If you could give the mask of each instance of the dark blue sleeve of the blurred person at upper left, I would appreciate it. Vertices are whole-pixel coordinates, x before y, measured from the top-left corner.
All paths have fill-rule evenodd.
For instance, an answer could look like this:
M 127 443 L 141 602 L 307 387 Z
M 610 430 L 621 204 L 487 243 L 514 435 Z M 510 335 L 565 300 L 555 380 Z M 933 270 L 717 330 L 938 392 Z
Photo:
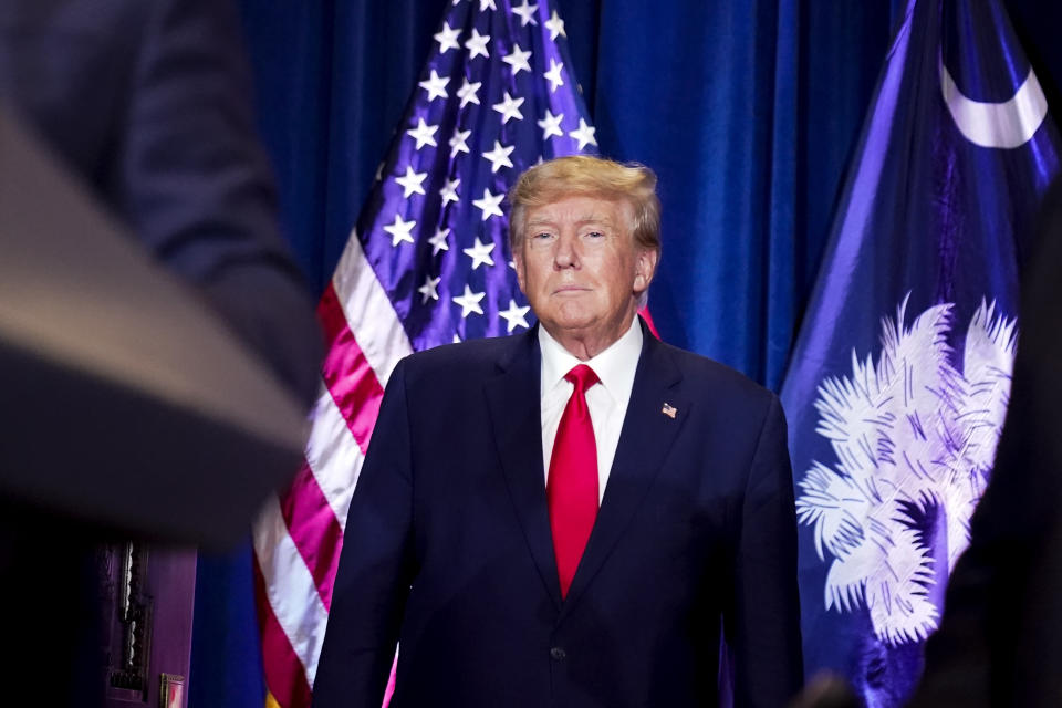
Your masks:
M 96 177 L 148 250 L 309 406 L 322 337 L 278 229 L 233 3 L 144 7 L 116 158 Z

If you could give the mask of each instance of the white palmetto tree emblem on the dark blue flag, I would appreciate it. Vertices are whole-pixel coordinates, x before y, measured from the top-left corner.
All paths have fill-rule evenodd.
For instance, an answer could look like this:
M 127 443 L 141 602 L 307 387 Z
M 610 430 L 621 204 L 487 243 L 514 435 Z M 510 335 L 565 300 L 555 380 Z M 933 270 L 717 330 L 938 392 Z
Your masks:
M 907 299 L 895 320 L 883 319 L 876 364 L 853 351 L 852 377 L 820 385 L 816 431 L 836 460 L 813 461 L 796 500 L 820 560 L 832 556 L 826 608 L 865 604 L 891 645 L 925 639 L 937 626 L 934 564 L 946 553 L 950 573 L 969 543 L 1007 410 L 1016 337 L 1014 321 L 982 301 L 959 372 L 947 343 L 952 305 L 929 308 L 909 329 L 906 310 Z M 918 525 L 930 508 L 939 520 L 935 548 Z

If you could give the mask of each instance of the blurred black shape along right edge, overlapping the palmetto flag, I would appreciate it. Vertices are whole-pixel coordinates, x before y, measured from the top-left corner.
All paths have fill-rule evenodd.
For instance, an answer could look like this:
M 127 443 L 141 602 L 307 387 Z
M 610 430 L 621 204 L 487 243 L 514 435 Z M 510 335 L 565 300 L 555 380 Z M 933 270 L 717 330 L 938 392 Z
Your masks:
M 995 471 L 909 707 L 1062 706 L 1062 181 L 1038 236 Z

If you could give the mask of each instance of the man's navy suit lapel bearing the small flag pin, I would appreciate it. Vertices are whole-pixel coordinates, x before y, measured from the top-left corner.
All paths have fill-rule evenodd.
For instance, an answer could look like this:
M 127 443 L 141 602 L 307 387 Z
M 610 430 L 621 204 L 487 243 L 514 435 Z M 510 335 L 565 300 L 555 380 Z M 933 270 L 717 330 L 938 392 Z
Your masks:
M 639 319 L 641 322 L 641 319 Z M 688 417 L 689 400 L 680 395 L 681 373 L 667 350 L 643 326 L 645 341 L 623 420 L 615 461 L 586 550 L 564 601 L 561 618 L 571 611 L 615 548 L 645 498 L 664 456 Z M 663 413 L 668 404 L 675 418 Z M 546 525 L 546 532 L 549 527 Z M 555 574 L 555 572 L 554 572 Z

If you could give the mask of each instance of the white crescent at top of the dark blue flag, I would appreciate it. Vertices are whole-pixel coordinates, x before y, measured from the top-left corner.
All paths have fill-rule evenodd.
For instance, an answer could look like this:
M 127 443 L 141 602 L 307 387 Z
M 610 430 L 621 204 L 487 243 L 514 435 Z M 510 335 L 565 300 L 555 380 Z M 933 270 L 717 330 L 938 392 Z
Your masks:
M 939 58 L 940 92 L 959 132 L 981 147 L 1020 147 L 1035 134 L 1048 115 L 1048 100 L 1037 75 L 1029 75 L 1010 101 L 985 103 L 962 95 Z

